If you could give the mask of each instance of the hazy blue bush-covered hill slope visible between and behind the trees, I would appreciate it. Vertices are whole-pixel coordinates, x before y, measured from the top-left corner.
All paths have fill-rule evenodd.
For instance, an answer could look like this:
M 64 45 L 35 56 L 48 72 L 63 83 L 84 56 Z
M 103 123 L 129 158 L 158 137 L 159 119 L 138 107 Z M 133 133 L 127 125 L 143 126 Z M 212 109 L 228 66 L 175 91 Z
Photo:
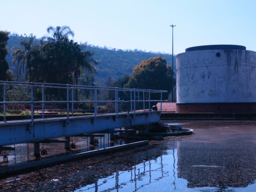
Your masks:
M 17 73 L 15 66 L 12 66 L 12 56 L 11 48 L 13 46 L 20 45 L 20 38 L 29 38 L 28 36 L 19 36 L 17 34 L 10 35 L 8 40 L 7 48 L 8 55 L 6 60 L 10 65 L 10 69 L 14 74 Z M 39 44 L 39 40 L 36 41 L 36 44 Z M 94 45 L 84 46 L 84 51 L 92 51 L 94 53 L 94 59 L 100 62 L 100 65 L 97 66 L 98 73 L 95 74 L 95 81 L 98 84 L 103 84 L 108 77 L 111 77 L 112 80 L 123 76 L 124 74 L 131 74 L 133 68 L 136 65 L 140 64 L 142 60 L 148 60 L 151 57 L 156 57 L 161 55 L 167 60 L 167 64 L 172 66 L 172 55 L 156 52 L 144 52 L 142 50 L 120 50 L 120 49 L 109 49 L 108 47 L 99 47 Z M 174 69 L 175 67 L 175 57 L 174 57 Z

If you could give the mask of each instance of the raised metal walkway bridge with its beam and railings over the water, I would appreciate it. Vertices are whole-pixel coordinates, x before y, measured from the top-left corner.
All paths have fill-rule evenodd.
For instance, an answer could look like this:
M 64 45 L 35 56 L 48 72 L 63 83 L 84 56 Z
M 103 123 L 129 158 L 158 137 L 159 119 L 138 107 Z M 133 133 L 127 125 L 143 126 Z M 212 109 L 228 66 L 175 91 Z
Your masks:
M 24 92 L 29 92 L 30 100 L 8 100 L 7 91 L 13 87 L 23 87 Z M 62 100 L 47 100 L 46 90 L 57 89 L 64 90 L 65 97 Z M 92 92 L 91 100 L 74 100 L 77 90 L 86 90 Z M 112 92 L 114 100 L 98 100 L 98 92 Z M 120 92 L 126 92 L 128 100 L 120 100 Z M 126 89 L 118 87 L 99 87 L 99 86 L 83 86 L 69 84 L 42 84 L 27 82 L 5 82 L 0 81 L 0 113 L 3 115 L 3 121 L 0 122 L 0 146 L 40 142 L 58 137 L 66 137 L 81 135 L 86 133 L 97 133 L 114 130 L 121 127 L 132 127 L 137 125 L 145 125 L 156 123 L 160 120 L 162 111 L 162 102 L 164 102 L 163 90 L 146 90 L 146 89 Z M 21 93 L 23 94 L 23 93 Z M 35 97 L 36 94 L 36 97 Z M 40 97 L 38 97 L 40 94 Z M 151 100 L 150 98 L 158 100 Z M 40 99 L 35 99 L 40 98 Z M 108 114 L 98 114 L 99 103 L 114 103 L 115 112 Z M 160 102 L 161 107 L 158 111 L 151 111 L 152 102 Z M 46 117 L 45 107 L 48 104 L 59 104 L 66 106 L 67 115 L 65 117 Z M 76 115 L 74 105 L 76 103 L 92 103 L 94 113 L 91 115 Z M 129 109 L 120 109 L 121 105 L 129 106 Z M 6 107 L 7 105 L 28 105 L 30 106 L 31 115 L 26 120 L 7 121 Z M 41 116 L 35 118 L 35 105 L 40 105 Z M 65 140 L 69 146 L 70 140 Z

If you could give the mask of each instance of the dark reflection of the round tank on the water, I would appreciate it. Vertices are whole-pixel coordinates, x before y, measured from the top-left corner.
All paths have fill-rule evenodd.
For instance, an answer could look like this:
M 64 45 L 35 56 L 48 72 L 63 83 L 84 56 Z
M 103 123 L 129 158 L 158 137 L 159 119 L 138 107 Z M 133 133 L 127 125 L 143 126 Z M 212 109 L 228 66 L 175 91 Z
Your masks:
M 215 122 L 214 127 L 221 127 L 223 124 L 232 127 L 232 122 L 223 121 L 219 124 Z M 197 125 L 195 123 L 194 126 Z M 241 129 L 245 129 L 245 125 L 240 123 L 238 125 L 242 126 Z M 209 126 L 209 122 L 201 122 L 200 126 Z M 217 133 L 209 134 L 207 137 L 202 135 L 205 135 L 208 129 L 195 129 L 197 132 L 193 137 L 177 144 L 178 178 L 186 179 L 188 188 L 246 187 L 255 183 L 254 125 L 252 124 L 250 128 L 248 127 L 250 125 L 246 126 L 247 136 L 237 132 L 237 127 L 234 127 L 233 132 L 230 132 L 233 128 L 226 132 L 216 128 Z

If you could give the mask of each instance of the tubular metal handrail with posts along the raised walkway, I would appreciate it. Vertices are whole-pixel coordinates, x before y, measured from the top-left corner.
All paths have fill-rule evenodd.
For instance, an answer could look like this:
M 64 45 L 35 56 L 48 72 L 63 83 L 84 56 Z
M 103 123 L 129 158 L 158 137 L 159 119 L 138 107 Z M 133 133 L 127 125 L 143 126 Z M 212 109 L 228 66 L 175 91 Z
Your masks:
M 6 101 L 6 86 L 23 86 L 29 87 L 31 93 L 31 100 L 30 101 Z M 84 86 L 84 85 L 70 85 L 70 84 L 50 84 L 50 83 L 28 83 L 28 82 L 8 82 L 8 81 L 0 81 L 0 87 L 3 87 L 3 101 L 0 104 L 3 104 L 3 113 L 4 113 L 4 122 L 6 122 L 6 104 L 30 104 L 31 105 L 31 126 L 33 126 L 34 122 L 34 104 L 42 104 L 42 118 L 44 118 L 44 104 L 49 103 L 66 103 L 67 104 L 67 122 L 69 119 L 69 105 L 71 103 L 71 113 L 74 114 L 74 103 L 94 103 L 94 118 L 96 119 L 97 116 L 97 104 L 99 102 L 114 102 L 115 103 L 115 114 L 116 117 L 118 116 L 118 103 L 130 103 L 131 108 L 130 111 L 133 111 L 134 116 L 136 113 L 136 103 L 143 102 L 143 111 L 147 111 L 145 109 L 145 102 L 148 102 L 148 113 L 150 113 L 150 102 L 161 102 L 160 112 L 162 111 L 162 102 L 166 101 L 163 100 L 163 93 L 167 92 L 164 90 L 147 90 L 147 89 L 128 89 L 128 88 L 118 88 L 118 87 L 100 87 L 100 86 Z M 42 92 L 41 101 L 34 100 L 34 89 L 40 88 Z M 45 88 L 55 88 L 55 89 L 66 89 L 67 93 L 67 100 L 56 100 L 56 101 L 45 101 L 44 100 L 44 89 Z M 94 100 L 74 100 L 74 90 L 93 90 L 94 91 Z M 97 93 L 98 90 L 107 90 L 107 91 L 114 91 L 115 92 L 115 100 L 97 100 Z M 70 92 L 71 91 L 71 92 Z M 119 100 L 118 92 L 130 92 L 130 100 L 124 101 Z M 160 100 L 151 100 L 150 96 L 152 93 L 160 93 Z M 128 93 L 129 94 L 129 93 Z M 142 100 L 140 100 L 140 95 L 142 94 Z M 145 100 L 145 94 L 148 95 L 148 100 Z M 71 96 L 71 99 L 69 98 Z M 138 100 L 136 100 L 136 97 Z

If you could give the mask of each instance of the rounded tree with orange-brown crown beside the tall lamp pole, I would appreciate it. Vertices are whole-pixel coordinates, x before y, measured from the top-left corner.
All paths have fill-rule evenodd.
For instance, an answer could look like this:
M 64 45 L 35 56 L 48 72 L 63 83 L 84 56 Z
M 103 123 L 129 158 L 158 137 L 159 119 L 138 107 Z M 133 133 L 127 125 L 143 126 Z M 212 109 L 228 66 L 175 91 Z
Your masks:
M 132 76 L 125 87 L 167 90 L 169 93 L 172 90 L 172 75 L 172 68 L 166 65 L 166 59 L 161 56 L 150 58 L 141 61 L 140 65 L 133 69 Z M 168 93 L 163 94 L 164 100 L 168 99 Z M 156 98 L 159 100 L 158 96 L 151 97 L 151 100 Z

